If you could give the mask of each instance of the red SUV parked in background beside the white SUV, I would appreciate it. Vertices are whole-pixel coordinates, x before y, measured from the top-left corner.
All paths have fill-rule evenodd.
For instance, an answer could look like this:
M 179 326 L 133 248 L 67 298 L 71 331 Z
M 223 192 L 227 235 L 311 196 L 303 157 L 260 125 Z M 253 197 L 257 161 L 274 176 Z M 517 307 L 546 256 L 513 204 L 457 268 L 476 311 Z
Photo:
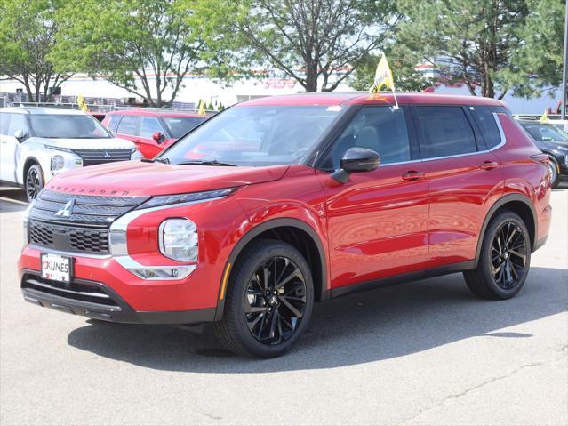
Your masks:
M 125 109 L 109 112 L 102 124 L 117 137 L 134 142 L 145 158 L 154 158 L 206 119 L 186 112 Z

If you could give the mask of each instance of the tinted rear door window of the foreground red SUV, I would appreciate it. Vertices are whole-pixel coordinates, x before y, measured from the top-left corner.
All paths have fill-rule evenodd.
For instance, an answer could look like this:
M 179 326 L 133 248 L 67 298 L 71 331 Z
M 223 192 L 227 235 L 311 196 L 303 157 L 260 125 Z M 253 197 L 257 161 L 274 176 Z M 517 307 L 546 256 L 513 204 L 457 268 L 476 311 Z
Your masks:
M 422 131 L 422 158 L 451 157 L 477 151 L 476 136 L 461 107 L 416 107 Z

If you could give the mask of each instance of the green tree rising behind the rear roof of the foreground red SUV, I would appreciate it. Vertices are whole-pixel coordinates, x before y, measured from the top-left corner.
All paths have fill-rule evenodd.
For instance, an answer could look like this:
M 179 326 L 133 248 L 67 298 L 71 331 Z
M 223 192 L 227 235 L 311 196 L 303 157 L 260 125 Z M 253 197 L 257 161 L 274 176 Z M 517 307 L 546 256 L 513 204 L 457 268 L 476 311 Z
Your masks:
M 399 0 L 405 20 L 397 42 L 419 52 L 442 80 L 463 82 L 472 95 L 502 99 L 521 89 L 514 60 L 524 46 L 526 0 Z M 561 35 L 558 35 L 560 38 Z

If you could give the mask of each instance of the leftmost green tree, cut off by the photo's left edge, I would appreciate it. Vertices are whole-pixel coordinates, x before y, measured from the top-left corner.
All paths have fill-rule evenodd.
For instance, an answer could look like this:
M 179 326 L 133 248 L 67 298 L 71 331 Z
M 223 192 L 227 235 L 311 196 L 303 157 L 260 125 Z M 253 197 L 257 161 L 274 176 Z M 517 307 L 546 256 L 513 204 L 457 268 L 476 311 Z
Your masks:
M 0 76 L 23 84 L 28 100 L 52 97 L 71 75 L 55 71 L 50 59 L 58 24 L 57 0 L 2 0 L 0 2 Z

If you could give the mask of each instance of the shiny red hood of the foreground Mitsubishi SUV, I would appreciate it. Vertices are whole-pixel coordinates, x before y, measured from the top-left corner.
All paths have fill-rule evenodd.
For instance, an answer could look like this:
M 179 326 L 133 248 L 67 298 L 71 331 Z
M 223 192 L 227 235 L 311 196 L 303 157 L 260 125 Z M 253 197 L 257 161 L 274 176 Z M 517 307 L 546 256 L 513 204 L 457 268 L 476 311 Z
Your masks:
M 134 160 L 61 173 L 49 181 L 46 188 L 103 196 L 181 194 L 276 181 L 284 176 L 288 167 L 164 165 Z

